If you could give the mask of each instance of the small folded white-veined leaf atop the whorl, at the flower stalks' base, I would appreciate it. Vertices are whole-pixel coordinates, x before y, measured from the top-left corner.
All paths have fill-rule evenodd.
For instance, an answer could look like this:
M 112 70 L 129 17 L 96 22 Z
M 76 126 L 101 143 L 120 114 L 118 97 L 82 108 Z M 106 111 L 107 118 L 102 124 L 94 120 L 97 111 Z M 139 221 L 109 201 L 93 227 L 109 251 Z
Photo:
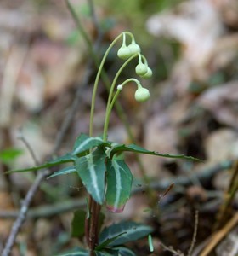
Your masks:
M 87 134 L 82 133 L 77 137 L 72 154 L 82 154 L 91 148 L 99 147 L 101 145 L 110 146 L 111 143 L 105 142 L 102 137 L 89 137 Z

